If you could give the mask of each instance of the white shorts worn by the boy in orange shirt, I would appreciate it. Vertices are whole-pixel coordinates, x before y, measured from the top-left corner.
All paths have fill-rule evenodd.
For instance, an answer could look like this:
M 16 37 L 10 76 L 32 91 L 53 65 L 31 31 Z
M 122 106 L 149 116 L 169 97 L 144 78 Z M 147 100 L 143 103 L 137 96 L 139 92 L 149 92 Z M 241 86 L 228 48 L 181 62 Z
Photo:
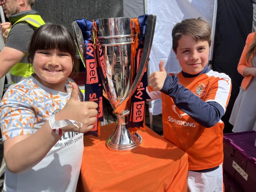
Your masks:
M 210 172 L 188 170 L 188 192 L 223 192 L 222 164 Z

